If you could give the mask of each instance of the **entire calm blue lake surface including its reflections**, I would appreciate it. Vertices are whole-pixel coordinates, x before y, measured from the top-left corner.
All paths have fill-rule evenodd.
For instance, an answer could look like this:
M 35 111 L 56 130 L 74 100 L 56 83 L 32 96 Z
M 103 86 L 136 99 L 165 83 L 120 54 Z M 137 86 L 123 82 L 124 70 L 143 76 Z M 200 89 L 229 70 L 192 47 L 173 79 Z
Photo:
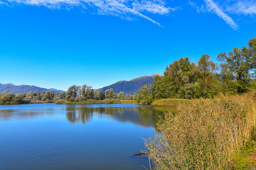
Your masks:
M 0 169 L 149 169 L 144 140 L 161 109 L 137 105 L 0 106 Z

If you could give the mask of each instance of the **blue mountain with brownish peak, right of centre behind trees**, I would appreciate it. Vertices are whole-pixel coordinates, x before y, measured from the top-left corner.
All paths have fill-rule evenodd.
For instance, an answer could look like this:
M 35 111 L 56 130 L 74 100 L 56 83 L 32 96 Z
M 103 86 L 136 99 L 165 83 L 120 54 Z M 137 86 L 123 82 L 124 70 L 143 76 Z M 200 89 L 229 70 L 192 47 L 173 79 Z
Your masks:
M 103 91 L 107 89 L 114 89 L 114 92 L 117 94 L 122 91 L 124 92 L 124 95 L 127 94 L 137 94 L 139 93 L 139 89 L 141 89 L 144 85 L 151 85 L 154 81 L 154 77 L 156 75 L 162 76 L 161 74 L 154 74 L 152 76 L 144 76 L 144 77 L 138 77 L 136 79 L 132 79 L 130 81 L 118 81 L 117 83 L 111 84 L 110 86 L 105 86 L 101 89 Z M 100 90 L 100 89 L 98 89 Z

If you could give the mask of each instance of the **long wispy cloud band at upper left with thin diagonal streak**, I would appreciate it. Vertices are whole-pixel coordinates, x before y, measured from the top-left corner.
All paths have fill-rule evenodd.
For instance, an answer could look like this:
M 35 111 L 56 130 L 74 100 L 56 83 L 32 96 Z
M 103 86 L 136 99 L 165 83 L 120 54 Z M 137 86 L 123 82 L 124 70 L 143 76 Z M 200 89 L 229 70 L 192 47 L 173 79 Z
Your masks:
M 144 15 L 142 12 L 156 13 L 160 15 L 175 11 L 175 8 L 166 6 L 162 0 L 7 0 L 9 4 L 24 4 L 30 6 L 46 6 L 47 8 L 73 8 L 83 10 L 94 8 L 97 14 L 112 15 L 125 18 L 129 15 L 145 18 L 152 23 L 161 26 L 160 23 Z M 0 0 L 1 3 L 1 0 Z M 162 26 L 161 26 L 162 27 Z

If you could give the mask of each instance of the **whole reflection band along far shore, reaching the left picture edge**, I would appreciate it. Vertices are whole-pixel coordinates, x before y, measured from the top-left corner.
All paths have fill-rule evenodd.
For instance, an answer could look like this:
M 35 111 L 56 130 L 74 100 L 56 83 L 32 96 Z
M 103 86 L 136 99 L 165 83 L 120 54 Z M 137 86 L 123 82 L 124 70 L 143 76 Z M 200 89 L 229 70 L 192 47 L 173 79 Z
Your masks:
M 134 123 L 143 127 L 154 127 L 164 112 L 171 108 L 139 106 L 139 107 L 92 107 L 92 106 L 62 106 L 51 108 L 28 109 L 0 109 L 0 119 L 10 120 L 12 118 L 33 118 L 39 115 L 65 114 L 68 122 L 82 123 L 86 125 L 97 116 L 97 118 L 110 118 L 119 123 Z

